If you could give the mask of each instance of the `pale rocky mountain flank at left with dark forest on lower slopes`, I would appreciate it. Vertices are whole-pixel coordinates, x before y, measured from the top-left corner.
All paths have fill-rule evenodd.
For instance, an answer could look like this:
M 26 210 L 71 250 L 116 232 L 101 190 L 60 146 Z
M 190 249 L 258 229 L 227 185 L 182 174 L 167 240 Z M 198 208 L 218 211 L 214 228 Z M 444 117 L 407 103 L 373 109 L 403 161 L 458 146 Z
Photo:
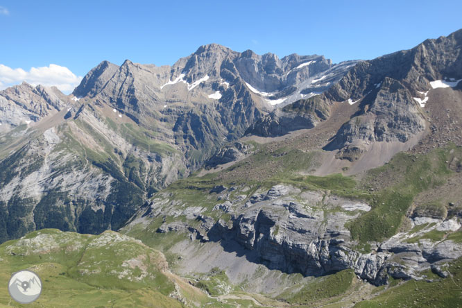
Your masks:
M 31 95 L 40 89 L 22 87 Z M 1 242 L 42 228 L 118 230 L 184 168 L 173 148 L 157 143 L 157 153 L 149 151 L 135 126 L 114 129 L 97 107 L 53 112 L 12 143 L 10 135 L 0 136 L 6 144 L 0 151 Z

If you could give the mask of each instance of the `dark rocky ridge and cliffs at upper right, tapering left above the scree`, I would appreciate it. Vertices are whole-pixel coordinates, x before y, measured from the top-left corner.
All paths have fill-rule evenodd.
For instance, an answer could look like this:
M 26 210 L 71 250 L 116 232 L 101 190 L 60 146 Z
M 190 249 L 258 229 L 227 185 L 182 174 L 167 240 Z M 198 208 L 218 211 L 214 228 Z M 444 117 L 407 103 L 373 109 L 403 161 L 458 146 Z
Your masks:
M 373 142 L 407 142 L 425 129 L 422 108 L 433 88 L 431 82 L 462 78 L 461 44 L 462 31 L 456 31 L 407 51 L 359 62 L 323 94 L 287 105 L 282 114 L 274 111 L 250 127 L 248 133 L 284 135 L 299 126 L 292 129 L 287 124 L 281 129 L 279 123 L 290 123 L 286 119 L 294 117 L 309 119 L 305 128 L 310 128 L 330 117 L 334 103 L 348 102 L 357 105 L 359 111 L 325 149 L 354 160 L 360 155 L 350 155 L 352 151 L 365 153 Z

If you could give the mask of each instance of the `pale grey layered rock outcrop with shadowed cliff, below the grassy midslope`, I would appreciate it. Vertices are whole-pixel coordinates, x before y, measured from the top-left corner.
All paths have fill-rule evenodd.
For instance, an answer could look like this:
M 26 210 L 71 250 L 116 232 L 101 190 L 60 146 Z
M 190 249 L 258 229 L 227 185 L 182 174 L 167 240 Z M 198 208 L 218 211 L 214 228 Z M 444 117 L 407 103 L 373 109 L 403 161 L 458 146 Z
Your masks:
M 284 273 L 318 276 L 352 268 L 358 277 L 377 285 L 387 283 L 390 276 L 424 279 L 421 271 L 440 268 L 448 260 L 462 256 L 460 243 L 422 237 L 432 230 L 458 229 L 456 219 L 434 220 L 418 232 L 399 233 L 382 243 L 370 243 L 371 250 L 366 253 L 359 250 L 345 225 L 370 211 L 367 203 L 289 185 L 275 185 L 250 196 L 244 193 L 243 198 L 229 197 L 230 191 L 241 194 L 239 190 L 221 187 L 211 192 L 220 200 L 212 212 L 227 213 L 228 221 L 205 216 L 203 207 L 180 209 L 158 196 L 147 212 L 140 211 L 139 218 L 135 217 L 130 225 L 138 223 L 141 216 L 186 216 L 189 221 L 164 223 L 157 232 L 186 232 L 190 239 L 219 243 L 225 251 L 246 255 L 252 262 Z M 421 223 L 425 222 L 415 222 Z M 422 240 L 418 240 L 420 237 Z

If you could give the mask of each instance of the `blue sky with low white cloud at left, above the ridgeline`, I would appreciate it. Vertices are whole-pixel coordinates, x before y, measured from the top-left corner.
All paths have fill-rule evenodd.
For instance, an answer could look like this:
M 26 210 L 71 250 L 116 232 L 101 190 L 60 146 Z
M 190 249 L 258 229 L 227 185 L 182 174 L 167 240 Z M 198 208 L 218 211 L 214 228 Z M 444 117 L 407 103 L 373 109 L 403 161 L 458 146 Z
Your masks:
M 460 12 L 460 0 L 0 0 L 0 87 L 53 74 L 50 84 L 70 87 L 101 60 L 172 65 L 212 42 L 366 60 L 449 35 L 462 28 Z

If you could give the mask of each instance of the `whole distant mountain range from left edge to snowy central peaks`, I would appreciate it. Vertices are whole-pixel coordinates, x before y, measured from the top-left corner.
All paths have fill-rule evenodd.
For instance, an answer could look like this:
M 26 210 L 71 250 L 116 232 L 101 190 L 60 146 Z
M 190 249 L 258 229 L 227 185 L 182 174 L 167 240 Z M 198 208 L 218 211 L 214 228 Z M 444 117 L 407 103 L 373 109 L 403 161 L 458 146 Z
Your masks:
M 355 64 L 210 44 L 172 67 L 103 61 L 69 96 L 10 87 L 0 92 L 0 239 L 117 230 L 274 105 L 323 92 Z

